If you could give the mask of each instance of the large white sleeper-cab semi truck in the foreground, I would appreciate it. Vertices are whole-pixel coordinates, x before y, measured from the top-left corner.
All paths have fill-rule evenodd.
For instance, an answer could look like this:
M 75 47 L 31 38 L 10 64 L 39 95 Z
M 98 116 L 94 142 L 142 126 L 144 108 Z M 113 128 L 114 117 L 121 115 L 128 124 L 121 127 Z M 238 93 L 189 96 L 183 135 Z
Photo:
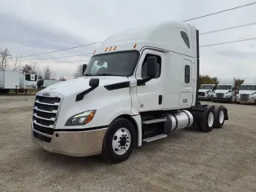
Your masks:
M 70 156 L 123 162 L 134 146 L 228 120 L 225 106 L 198 102 L 199 33 L 183 22 L 122 30 L 94 51 L 84 76 L 36 95 L 35 144 Z

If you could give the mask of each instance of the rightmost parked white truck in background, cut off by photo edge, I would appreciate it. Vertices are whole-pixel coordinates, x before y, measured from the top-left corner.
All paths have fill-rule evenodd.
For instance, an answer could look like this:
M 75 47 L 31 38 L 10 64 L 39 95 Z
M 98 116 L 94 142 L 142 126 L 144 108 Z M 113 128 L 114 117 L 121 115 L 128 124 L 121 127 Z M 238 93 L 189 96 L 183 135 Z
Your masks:
M 245 78 L 239 87 L 237 103 L 256 103 L 256 78 Z

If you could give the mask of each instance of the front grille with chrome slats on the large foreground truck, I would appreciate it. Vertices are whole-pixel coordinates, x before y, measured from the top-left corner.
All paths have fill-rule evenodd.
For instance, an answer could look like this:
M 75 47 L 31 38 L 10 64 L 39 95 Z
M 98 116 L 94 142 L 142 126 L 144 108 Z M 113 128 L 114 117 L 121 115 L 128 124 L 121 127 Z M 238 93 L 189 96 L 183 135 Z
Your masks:
M 34 130 L 44 134 L 54 134 L 54 124 L 57 121 L 60 102 L 59 97 L 36 96 L 33 110 Z

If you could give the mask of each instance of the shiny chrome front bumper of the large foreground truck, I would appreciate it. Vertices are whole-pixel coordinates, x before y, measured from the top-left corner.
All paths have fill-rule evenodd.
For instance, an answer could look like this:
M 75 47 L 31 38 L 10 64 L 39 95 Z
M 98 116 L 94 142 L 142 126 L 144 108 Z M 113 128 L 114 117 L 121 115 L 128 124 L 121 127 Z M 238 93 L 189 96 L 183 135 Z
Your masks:
M 54 131 L 44 134 L 31 127 L 32 141 L 44 150 L 74 157 L 86 157 L 102 153 L 106 128 L 82 131 Z

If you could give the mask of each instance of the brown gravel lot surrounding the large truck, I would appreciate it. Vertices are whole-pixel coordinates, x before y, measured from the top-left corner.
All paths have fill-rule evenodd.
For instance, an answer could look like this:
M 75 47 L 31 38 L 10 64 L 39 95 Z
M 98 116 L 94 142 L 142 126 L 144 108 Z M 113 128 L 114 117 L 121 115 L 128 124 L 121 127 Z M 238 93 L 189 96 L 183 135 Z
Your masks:
M 256 191 L 256 106 L 226 104 L 230 121 L 210 133 L 178 130 L 107 165 L 38 149 L 34 97 L 0 96 L 0 191 Z

